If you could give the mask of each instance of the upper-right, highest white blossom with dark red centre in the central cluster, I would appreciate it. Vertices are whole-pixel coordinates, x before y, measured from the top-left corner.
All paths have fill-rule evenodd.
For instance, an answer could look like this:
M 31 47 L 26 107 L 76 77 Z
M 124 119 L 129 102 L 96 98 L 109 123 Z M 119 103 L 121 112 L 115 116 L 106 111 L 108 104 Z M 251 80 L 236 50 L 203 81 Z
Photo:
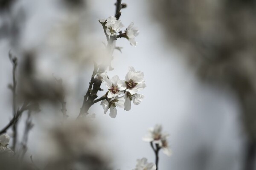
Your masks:
M 146 87 L 143 78 L 143 72 L 135 71 L 133 67 L 129 67 L 129 71 L 125 76 L 125 82 L 122 84 L 122 87 L 125 87 L 126 91 L 130 92 L 131 95 L 134 95 L 137 91 L 141 91 Z

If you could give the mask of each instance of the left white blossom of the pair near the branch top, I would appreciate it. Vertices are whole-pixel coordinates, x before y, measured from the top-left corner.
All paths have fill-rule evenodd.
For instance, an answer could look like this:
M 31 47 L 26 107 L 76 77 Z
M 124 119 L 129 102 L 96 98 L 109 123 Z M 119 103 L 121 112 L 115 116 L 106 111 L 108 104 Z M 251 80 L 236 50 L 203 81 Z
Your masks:
M 100 20 L 100 22 L 103 20 Z M 116 17 L 110 16 L 106 20 L 105 26 L 107 27 L 106 33 L 109 36 L 116 35 L 116 32 L 119 32 L 120 29 L 124 26 L 120 20 L 116 20 Z

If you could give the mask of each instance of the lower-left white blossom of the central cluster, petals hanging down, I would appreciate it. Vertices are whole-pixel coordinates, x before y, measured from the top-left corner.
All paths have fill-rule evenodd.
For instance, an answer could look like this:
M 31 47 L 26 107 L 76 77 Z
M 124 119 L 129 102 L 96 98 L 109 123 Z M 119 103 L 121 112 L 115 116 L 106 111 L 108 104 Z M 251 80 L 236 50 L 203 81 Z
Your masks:
M 124 102 L 125 100 L 123 97 L 113 97 L 110 100 L 102 100 L 100 105 L 102 105 L 105 114 L 109 109 L 109 116 L 111 116 L 111 118 L 115 118 L 117 114 L 116 106 L 123 108 Z

